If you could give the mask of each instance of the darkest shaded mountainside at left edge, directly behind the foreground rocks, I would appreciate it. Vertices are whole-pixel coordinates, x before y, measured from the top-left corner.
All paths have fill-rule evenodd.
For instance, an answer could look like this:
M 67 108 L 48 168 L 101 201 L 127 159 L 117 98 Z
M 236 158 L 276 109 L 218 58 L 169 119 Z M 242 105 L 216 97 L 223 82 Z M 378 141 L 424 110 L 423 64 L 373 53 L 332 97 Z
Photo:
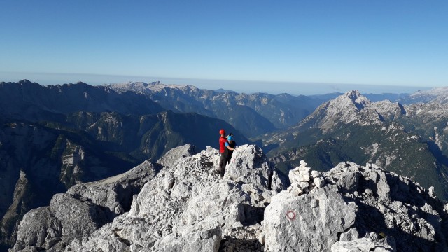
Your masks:
M 20 121 L 0 123 L 0 237 L 14 241 L 27 211 L 42 207 L 75 183 L 95 181 L 134 166 L 96 148 L 79 132 Z

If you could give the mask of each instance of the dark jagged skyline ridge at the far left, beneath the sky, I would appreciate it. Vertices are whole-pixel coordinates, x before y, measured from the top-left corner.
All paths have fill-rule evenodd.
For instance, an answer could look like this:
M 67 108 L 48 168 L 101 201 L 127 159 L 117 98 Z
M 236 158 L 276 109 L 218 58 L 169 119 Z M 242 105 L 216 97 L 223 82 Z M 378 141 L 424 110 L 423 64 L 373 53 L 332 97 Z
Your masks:
M 108 87 L 85 83 L 48 85 L 29 80 L 0 83 L 0 115 L 20 120 L 60 120 L 76 111 L 146 115 L 164 111 L 148 97 L 134 92 L 118 94 Z

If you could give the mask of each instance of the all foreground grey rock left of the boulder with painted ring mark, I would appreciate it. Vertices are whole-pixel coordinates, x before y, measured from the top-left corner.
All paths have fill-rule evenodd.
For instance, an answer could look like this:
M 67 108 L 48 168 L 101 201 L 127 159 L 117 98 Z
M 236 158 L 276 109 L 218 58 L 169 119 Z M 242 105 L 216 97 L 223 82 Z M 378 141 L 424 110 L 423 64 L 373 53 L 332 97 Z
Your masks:
M 221 179 L 214 174 L 216 149 L 193 153 L 193 146 L 181 146 L 158 161 L 164 168 L 153 167 L 152 176 L 116 176 L 56 195 L 50 207 L 25 216 L 12 251 L 261 251 L 265 205 L 284 189 L 274 167 L 260 148 L 240 146 L 239 165 L 225 175 L 239 169 L 239 179 Z M 120 188 L 122 177 L 145 182 L 138 195 Z

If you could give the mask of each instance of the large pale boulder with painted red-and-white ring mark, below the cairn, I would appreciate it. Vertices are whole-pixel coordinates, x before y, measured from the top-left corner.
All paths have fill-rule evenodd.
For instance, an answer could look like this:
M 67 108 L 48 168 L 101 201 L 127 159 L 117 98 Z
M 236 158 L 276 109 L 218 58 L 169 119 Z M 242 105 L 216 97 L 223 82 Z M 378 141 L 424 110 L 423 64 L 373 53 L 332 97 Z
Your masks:
M 311 208 L 311 202 L 316 206 Z M 263 230 L 267 251 L 329 251 L 355 222 L 355 209 L 335 186 L 299 197 L 279 193 L 266 207 Z

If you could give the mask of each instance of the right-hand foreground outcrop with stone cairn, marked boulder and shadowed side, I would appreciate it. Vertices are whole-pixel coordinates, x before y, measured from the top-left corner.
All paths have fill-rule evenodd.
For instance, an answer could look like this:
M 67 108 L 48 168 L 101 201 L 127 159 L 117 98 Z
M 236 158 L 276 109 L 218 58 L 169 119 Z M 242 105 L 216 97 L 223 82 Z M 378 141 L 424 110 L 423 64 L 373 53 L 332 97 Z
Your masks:
M 265 251 L 448 251 L 444 204 L 410 179 L 350 162 L 289 178 L 265 210 Z

